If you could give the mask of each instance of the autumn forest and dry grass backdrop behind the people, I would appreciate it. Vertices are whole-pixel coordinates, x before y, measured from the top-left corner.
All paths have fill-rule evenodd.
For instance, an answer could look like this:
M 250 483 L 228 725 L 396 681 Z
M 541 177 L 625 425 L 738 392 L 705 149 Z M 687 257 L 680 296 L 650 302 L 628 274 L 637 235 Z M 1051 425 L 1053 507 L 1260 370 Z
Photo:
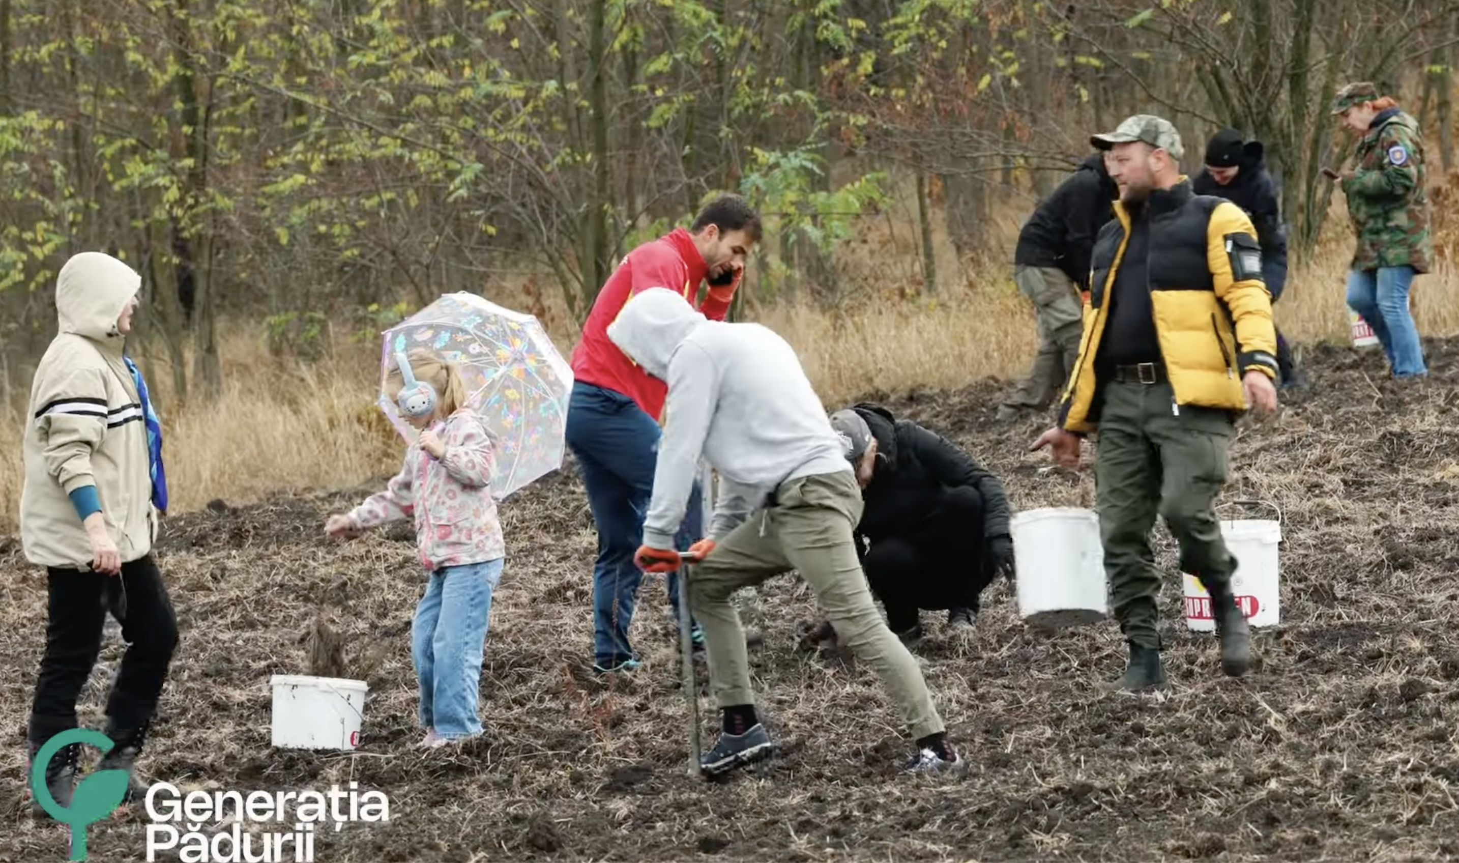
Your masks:
M 1423 124 L 1459 333 L 1444 0 L 0 0 L 0 523 L 64 260 L 143 275 L 130 352 L 177 508 L 390 470 L 379 331 L 442 292 L 537 314 L 566 355 L 638 242 L 719 190 L 766 222 L 735 301 L 827 404 L 1021 374 L 1017 229 L 1134 112 L 1185 169 L 1236 126 L 1282 184 L 1277 318 L 1347 339 L 1352 234 L 1320 175 L 1332 93 Z

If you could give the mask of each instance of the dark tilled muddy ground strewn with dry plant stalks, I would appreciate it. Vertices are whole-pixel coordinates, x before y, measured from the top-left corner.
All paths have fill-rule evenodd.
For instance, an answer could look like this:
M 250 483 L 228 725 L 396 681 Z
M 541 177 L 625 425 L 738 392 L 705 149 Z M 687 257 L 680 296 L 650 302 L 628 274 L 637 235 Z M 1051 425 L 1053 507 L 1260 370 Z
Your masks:
M 870 669 L 801 645 L 814 610 L 791 577 L 747 600 L 781 758 L 725 783 L 686 775 L 686 707 L 661 583 L 635 624 L 648 666 L 588 670 L 594 529 L 560 472 L 505 505 L 511 558 L 481 678 L 484 739 L 422 753 L 409 659 L 422 590 L 409 533 L 324 542 L 325 513 L 369 488 L 168 520 L 162 567 L 182 644 L 149 780 L 222 790 L 390 794 L 390 821 L 318 835 L 315 860 L 1436 860 L 1459 856 L 1459 342 L 1431 342 L 1431 378 L 1395 384 L 1382 358 L 1320 349 L 1313 390 L 1243 423 L 1227 499 L 1281 508 L 1282 622 L 1255 672 L 1220 675 L 1186 631 L 1160 532 L 1167 698 L 1115 695 L 1113 624 L 1026 628 L 1013 590 L 985 594 L 976 632 L 926 613 L 919 648 L 972 761 L 960 780 L 899 775 L 909 752 Z M 1001 386 L 881 396 L 967 445 L 1020 508 L 1077 505 L 1090 480 L 1026 453 L 1042 422 L 995 426 Z M 61 860 L 64 828 L 23 815 L 23 730 L 45 619 L 44 583 L 0 545 L 0 862 Z M 317 615 L 371 683 L 359 752 L 270 749 L 274 673 L 306 673 Z M 118 657 L 115 634 L 104 659 Z M 372 667 L 374 666 L 374 667 Z M 108 669 L 85 695 L 99 726 Z M 702 701 L 706 739 L 712 711 Z M 90 828 L 92 860 L 144 859 L 144 813 Z M 175 859 L 175 857 L 159 857 Z

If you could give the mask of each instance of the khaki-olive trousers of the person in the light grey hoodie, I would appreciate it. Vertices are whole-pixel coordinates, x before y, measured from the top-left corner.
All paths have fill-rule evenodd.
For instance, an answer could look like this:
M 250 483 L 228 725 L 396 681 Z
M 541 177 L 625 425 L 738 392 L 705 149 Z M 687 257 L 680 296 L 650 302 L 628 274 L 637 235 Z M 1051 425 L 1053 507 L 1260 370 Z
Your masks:
M 795 569 L 836 637 L 881 676 L 912 736 L 944 730 L 922 669 L 881 619 L 856 561 L 852 529 L 861 510 L 861 486 L 851 470 L 791 479 L 776 489 L 775 505 L 750 515 L 690 567 L 689 602 L 705 629 L 709 685 L 721 708 L 754 704 L 744 629 L 730 596 Z

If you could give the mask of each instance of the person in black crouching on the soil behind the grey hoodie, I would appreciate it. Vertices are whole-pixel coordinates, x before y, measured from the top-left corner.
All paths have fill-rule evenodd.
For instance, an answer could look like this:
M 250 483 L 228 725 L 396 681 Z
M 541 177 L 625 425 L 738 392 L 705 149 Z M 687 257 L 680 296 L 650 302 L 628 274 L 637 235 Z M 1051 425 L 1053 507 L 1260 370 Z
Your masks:
M 1002 482 L 880 404 L 837 410 L 832 425 L 856 464 L 864 502 L 856 551 L 887 625 L 915 641 L 919 612 L 947 609 L 950 628 L 972 626 L 983 588 L 999 574 L 1014 577 Z

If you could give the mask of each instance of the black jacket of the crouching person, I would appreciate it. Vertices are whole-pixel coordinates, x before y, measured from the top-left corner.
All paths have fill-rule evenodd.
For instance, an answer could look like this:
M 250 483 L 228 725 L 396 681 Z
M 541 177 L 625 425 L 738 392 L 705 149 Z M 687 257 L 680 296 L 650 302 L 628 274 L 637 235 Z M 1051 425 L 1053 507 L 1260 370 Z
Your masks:
M 1008 536 L 1008 495 L 1002 482 L 947 438 L 880 404 L 852 409 L 877 438 L 877 469 L 862 491 L 856 534 L 872 543 L 918 537 L 941 507 L 943 491 L 972 486 L 983 499 L 982 537 Z M 858 542 L 858 548 L 861 543 Z

